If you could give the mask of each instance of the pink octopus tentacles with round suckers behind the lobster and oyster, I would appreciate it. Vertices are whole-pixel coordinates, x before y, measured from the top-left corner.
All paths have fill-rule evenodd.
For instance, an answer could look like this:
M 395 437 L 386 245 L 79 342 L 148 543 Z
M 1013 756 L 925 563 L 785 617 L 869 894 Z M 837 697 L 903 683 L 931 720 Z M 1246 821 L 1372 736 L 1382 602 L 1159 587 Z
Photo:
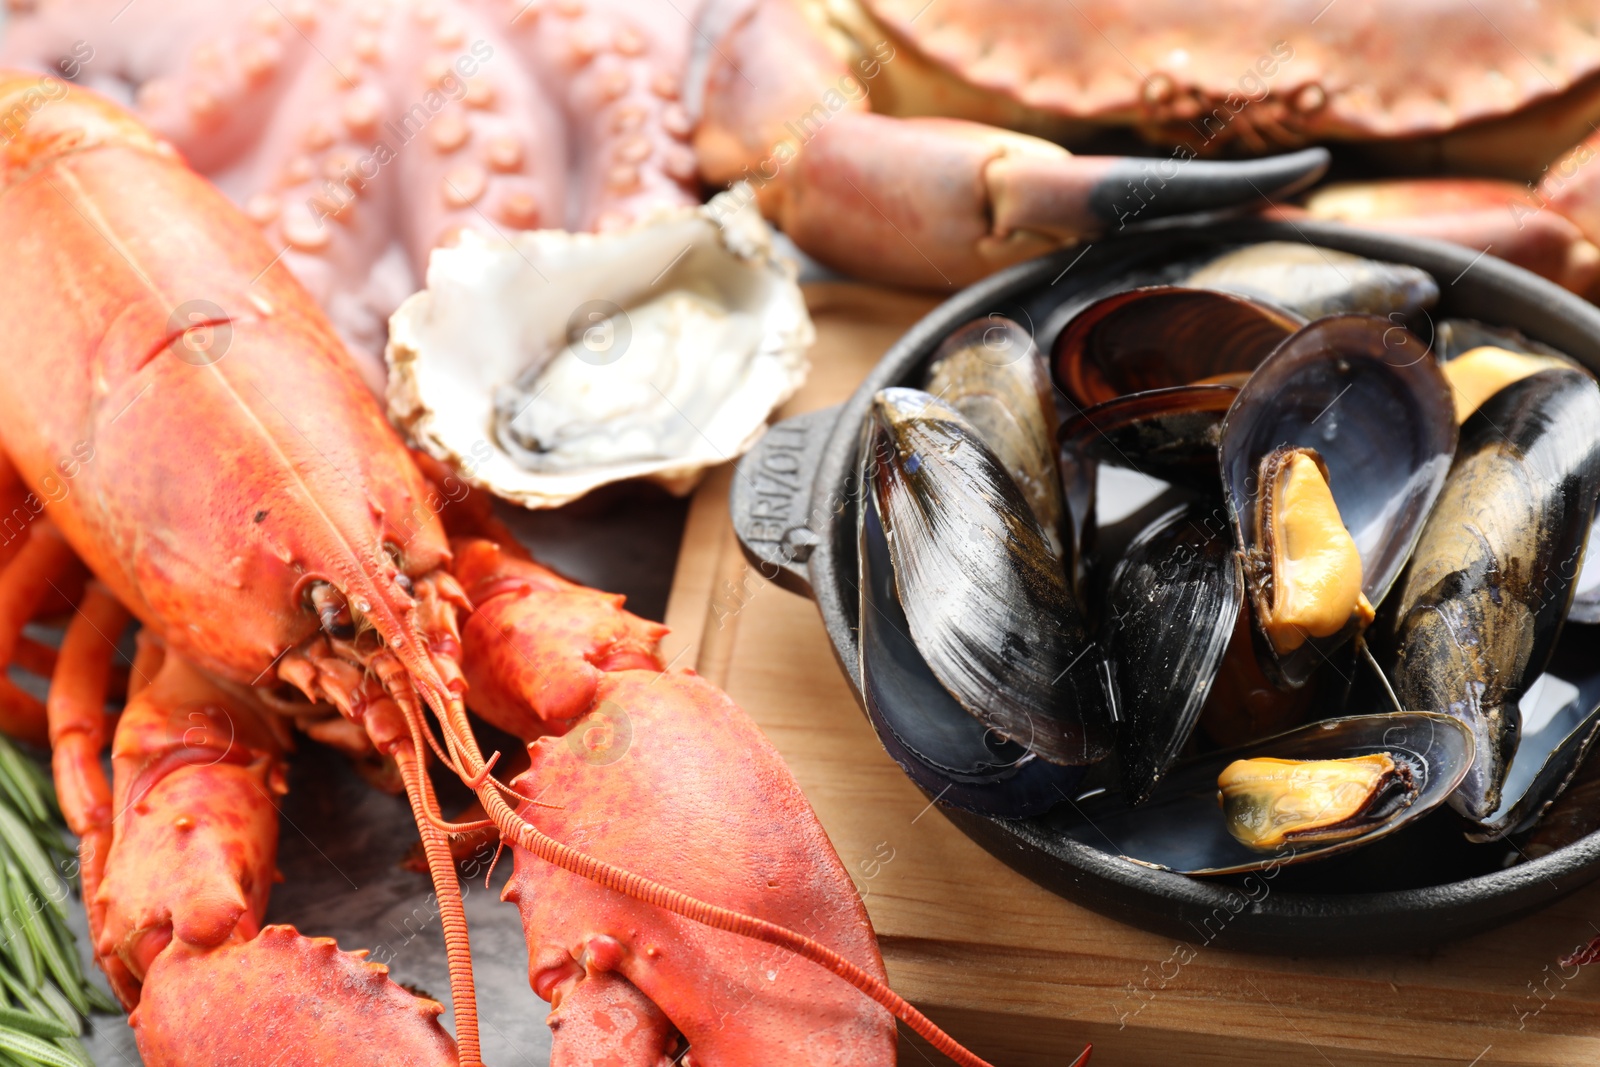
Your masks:
M 382 389 L 389 315 L 459 227 L 698 203 L 678 0 L 8 0 L 0 62 L 131 101 L 282 248 Z

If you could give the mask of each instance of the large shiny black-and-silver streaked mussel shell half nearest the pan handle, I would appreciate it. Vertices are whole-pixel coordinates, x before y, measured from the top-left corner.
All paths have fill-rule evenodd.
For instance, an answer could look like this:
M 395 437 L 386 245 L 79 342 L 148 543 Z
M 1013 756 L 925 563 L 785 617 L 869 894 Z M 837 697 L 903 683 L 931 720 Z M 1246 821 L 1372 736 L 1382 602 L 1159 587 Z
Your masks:
M 877 394 L 864 458 L 894 589 L 934 677 L 981 723 L 1051 763 L 1102 758 L 1102 659 L 1000 459 L 917 389 Z

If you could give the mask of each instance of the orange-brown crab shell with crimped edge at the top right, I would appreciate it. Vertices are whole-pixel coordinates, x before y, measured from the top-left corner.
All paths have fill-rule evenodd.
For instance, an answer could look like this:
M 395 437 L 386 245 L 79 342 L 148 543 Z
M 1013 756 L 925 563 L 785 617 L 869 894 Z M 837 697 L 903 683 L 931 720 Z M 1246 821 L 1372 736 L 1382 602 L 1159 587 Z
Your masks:
M 859 6 L 858 6 L 859 5 Z M 990 122 L 1074 142 L 1134 126 L 1162 142 L 1250 150 L 1310 141 L 1464 136 L 1418 163 L 1531 173 L 1600 114 L 1600 11 L 1501 16 L 1472 0 L 834 0 L 814 22 L 906 48 L 874 109 Z M 1507 35 L 1510 34 L 1510 35 Z M 1426 42 L 1426 45 L 1421 45 Z M 1538 123 L 1488 123 L 1542 104 Z

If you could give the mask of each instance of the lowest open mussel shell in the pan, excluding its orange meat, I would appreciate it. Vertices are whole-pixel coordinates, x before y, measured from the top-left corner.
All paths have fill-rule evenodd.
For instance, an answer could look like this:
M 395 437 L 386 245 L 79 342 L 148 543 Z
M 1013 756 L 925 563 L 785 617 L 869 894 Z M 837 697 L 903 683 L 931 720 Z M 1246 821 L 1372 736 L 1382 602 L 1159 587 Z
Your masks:
M 1373 819 L 1339 840 L 1288 843 L 1259 851 L 1238 841 L 1218 803 L 1218 777 L 1237 760 L 1346 760 L 1387 753 L 1405 763 L 1406 803 L 1387 803 Z M 1277 869 L 1334 856 L 1394 833 L 1438 808 L 1461 784 L 1472 761 L 1472 734 L 1454 718 L 1429 712 L 1355 715 L 1301 726 L 1277 737 L 1179 763 L 1134 808 L 1101 793 L 1080 798 L 1056 816 L 1069 837 L 1106 848 L 1133 862 L 1186 875 L 1230 875 Z

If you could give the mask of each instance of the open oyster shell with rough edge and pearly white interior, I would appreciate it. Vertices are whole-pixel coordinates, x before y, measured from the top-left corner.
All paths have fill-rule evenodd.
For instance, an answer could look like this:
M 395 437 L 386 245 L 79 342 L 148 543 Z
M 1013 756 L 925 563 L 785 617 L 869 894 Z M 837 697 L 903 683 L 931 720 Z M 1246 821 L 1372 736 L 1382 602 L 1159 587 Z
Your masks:
M 526 507 L 624 478 L 683 493 L 755 442 L 813 338 L 739 190 L 618 234 L 467 232 L 389 322 L 389 416 Z

